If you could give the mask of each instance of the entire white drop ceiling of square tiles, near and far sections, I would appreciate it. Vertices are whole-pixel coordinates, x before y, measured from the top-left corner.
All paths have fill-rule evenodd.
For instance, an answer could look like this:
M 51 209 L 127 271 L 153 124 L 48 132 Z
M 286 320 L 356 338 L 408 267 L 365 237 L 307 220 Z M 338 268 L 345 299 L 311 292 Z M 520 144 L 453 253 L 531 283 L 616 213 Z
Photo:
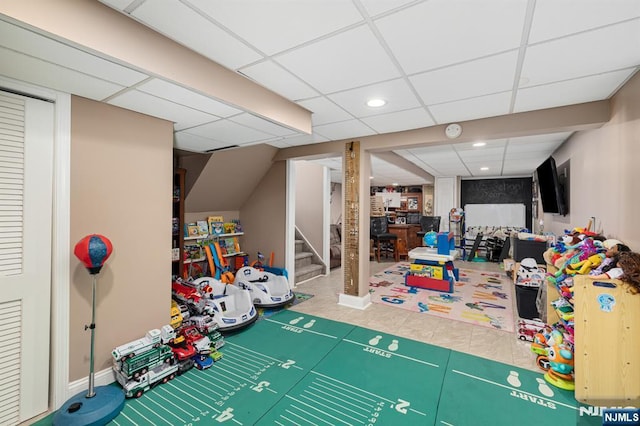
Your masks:
M 0 15 L 0 75 L 171 120 L 175 147 L 194 152 L 287 148 L 603 100 L 640 65 L 637 0 L 100 3 L 312 113 L 311 134 L 292 130 Z M 374 97 L 385 106 L 368 107 Z M 570 134 L 394 152 L 436 177 L 523 176 Z M 425 183 L 375 157 L 372 170 L 375 184 Z

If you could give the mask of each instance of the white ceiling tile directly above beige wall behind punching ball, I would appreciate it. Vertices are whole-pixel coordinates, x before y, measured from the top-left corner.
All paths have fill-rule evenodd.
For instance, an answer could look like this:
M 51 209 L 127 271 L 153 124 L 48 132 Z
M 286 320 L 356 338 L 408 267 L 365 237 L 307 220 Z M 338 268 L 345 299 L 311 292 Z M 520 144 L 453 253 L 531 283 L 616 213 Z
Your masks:
M 220 119 L 214 115 L 196 111 L 184 105 L 157 98 L 137 90 L 124 92 L 111 98 L 107 103 L 172 121 L 175 123 L 175 130 L 183 130 Z

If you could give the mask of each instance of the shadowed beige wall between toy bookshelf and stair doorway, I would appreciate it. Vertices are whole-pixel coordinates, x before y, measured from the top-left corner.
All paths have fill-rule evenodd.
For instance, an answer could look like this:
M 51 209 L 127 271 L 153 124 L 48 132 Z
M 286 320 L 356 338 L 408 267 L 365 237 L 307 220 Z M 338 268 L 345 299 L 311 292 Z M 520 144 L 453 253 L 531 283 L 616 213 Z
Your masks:
M 240 209 L 244 228 L 242 249 L 255 260 L 262 252 L 267 259 L 274 253 L 274 266 L 285 264 L 287 164 L 273 163 L 264 178 Z

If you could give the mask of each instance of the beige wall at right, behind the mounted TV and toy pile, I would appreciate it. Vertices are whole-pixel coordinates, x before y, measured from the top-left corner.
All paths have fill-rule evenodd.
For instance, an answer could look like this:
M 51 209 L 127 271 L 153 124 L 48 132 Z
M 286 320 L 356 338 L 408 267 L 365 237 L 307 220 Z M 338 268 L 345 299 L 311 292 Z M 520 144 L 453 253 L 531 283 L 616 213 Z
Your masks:
M 554 153 L 557 164 L 571 160 L 570 210 L 566 217 L 544 215 L 545 231 L 561 234 L 584 227 L 591 216 L 596 229 L 640 251 L 640 74 L 612 99 L 611 120 L 596 130 L 576 133 Z

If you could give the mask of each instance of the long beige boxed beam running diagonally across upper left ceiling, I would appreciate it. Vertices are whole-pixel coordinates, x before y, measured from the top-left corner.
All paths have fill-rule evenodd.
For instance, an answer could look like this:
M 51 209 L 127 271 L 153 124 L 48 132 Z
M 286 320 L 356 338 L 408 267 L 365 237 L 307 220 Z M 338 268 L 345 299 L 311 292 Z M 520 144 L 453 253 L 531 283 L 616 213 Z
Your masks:
M 7 21 L 311 134 L 311 113 L 98 1 L 0 2 Z

